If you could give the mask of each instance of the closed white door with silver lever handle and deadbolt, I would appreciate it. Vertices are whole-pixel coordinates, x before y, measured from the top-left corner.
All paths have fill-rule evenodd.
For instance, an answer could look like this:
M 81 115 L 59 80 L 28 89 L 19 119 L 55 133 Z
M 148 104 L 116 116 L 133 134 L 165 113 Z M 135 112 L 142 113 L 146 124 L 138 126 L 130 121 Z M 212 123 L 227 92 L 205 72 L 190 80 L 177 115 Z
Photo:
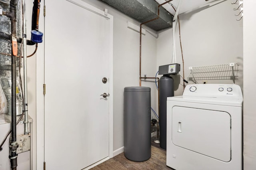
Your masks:
M 81 170 L 109 156 L 109 18 L 81 0 L 46 0 L 44 160 Z

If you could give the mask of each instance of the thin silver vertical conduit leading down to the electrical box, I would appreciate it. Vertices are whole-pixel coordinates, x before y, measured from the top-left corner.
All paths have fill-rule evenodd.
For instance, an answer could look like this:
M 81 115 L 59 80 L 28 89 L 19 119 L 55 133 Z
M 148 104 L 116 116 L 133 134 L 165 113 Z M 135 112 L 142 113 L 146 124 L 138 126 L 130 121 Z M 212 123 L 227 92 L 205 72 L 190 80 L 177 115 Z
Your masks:
M 22 0 L 23 7 L 23 70 L 24 70 L 24 134 L 28 134 L 28 87 L 27 87 L 27 40 L 26 40 L 26 0 Z

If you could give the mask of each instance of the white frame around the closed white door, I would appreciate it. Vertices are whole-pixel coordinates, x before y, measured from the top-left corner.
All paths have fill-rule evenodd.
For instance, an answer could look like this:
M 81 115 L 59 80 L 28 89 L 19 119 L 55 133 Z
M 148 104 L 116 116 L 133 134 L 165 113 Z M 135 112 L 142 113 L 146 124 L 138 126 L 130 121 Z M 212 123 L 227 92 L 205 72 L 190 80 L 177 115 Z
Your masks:
M 113 16 L 107 13 L 107 10 L 104 11 L 87 4 L 82 0 L 66 0 L 68 2 L 74 3 L 85 10 L 89 10 L 98 14 L 109 20 L 109 132 L 108 132 L 108 158 L 113 157 Z M 45 5 L 45 0 L 41 1 L 41 6 Z M 46 17 L 47 17 L 47 7 L 46 6 Z M 50 7 L 48 7 L 50 8 Z M 41 14 L 39 18 L 40 27 L 45 29 L 44 25 L 44 16 Z M 40 29 L 43 30 L 43 29 Z M 44 30 L 43 30 L 44 33 Z M 47 38 L 47 35 L 44 35 L 44 40 Z M 43 170 L 44 168 L 44 94 L 43 94 L 43 85 L 44 85 L 44 41 L 43 43 L 38 44 L 38 50 L 36 53 L 36 169 Z M 47 94 L 47 86 L 46 86 Z M 105 160 L 100 160 L 95 164 L 89 166 L 92 168 L 97 164 L 104 162 Z M 46 162 L 47 167 L 47 162 Z M 88 168 L 89 168 L 88 167 Z

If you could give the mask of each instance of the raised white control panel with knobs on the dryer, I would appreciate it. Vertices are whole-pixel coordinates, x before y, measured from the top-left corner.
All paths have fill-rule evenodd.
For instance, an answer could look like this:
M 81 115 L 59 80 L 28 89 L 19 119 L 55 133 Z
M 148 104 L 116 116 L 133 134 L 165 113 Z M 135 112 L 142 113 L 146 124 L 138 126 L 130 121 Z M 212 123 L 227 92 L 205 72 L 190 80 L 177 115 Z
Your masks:
M 184 96 L 242 97 L 240 86 L 234 84 L 192 84 L 187 85 Z

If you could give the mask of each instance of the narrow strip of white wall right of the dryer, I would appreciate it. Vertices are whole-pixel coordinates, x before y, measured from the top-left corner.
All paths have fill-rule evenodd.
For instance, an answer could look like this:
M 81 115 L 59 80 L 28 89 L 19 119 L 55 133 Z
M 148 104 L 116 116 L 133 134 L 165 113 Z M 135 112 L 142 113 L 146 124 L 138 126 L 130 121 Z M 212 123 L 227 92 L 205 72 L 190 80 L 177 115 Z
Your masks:
M 244 170 L 256 167 L 256 1 L 244 0 Z

